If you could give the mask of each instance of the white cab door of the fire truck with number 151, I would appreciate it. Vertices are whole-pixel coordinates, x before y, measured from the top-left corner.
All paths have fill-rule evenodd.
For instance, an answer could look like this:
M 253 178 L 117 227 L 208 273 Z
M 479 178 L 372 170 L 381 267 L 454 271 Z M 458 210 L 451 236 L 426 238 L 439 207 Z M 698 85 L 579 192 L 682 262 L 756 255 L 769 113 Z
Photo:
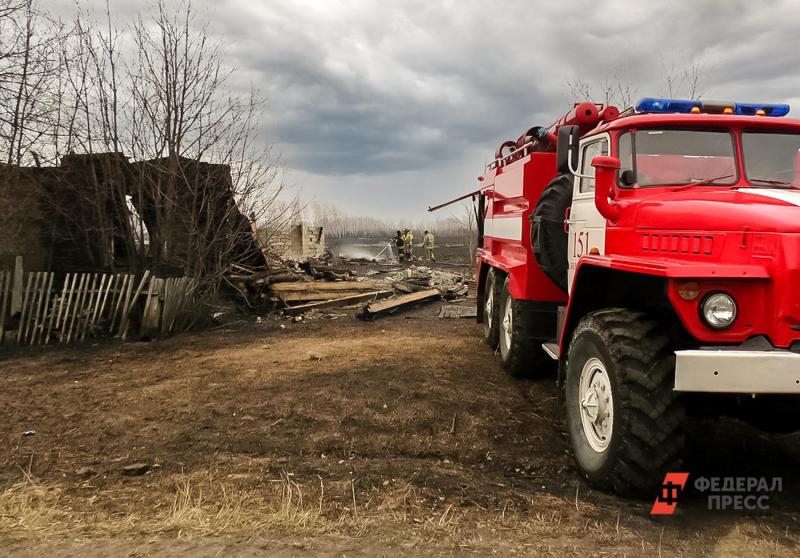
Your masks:
M 594 167 L 592 159 L 608 155 L 609 136 L 601 134 L 580 143 L 578 172 L 589 178 L 575 177 L 572 190 L 572 207 L 567 219 L 569 226 L 569 271 L 567 284 L 572 290 L 575 267 L 580 258 L 590 252 L 605 253 L 606 220 L 594 204 Z

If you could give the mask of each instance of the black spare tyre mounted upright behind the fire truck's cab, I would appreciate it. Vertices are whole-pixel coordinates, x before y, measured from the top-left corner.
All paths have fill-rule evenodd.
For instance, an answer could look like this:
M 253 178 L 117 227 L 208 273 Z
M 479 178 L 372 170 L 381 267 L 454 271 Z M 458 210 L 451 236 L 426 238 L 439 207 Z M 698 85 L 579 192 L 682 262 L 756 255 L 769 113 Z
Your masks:
M 531 216 L 531 245 L 542 271 L 567 291 L 567 233 L 564 216 L 572 204 L 572 175 L 559 174 L 545 186 Z

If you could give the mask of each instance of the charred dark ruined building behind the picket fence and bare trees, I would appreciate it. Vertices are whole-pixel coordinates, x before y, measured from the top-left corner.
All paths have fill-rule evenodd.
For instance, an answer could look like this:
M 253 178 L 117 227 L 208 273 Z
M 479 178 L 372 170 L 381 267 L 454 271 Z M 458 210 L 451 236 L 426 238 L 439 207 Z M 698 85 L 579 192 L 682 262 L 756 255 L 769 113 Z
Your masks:
M 230 169 L 184 158 L 66 155 L 57 167 L 0 166 L 0 267 L 165 269 L 263 266 Z

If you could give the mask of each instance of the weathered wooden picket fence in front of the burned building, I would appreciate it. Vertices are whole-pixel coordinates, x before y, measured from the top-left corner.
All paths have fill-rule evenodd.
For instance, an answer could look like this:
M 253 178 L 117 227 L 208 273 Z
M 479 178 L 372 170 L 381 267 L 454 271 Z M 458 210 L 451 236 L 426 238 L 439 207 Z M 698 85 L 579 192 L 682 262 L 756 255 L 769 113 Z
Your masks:
M 191 325 L 195 284 L 127 273 L 0 271 L 0 344 L 166 336 Z M 140 298 L 145 296 L 144 304 Z

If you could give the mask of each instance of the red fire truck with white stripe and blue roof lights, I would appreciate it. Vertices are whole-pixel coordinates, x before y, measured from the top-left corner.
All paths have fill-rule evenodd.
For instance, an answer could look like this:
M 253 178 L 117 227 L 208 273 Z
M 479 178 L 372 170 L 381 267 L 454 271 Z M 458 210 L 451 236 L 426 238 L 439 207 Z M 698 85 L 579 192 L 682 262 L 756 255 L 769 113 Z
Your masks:
M 467 195 L 486 342 L 511 375 L 556 375 L 591 484 L 651 490 L 680 467 L 694 413 L 800 429 L 800 121 L 788 112 L 581 103 L 504 142 Z

